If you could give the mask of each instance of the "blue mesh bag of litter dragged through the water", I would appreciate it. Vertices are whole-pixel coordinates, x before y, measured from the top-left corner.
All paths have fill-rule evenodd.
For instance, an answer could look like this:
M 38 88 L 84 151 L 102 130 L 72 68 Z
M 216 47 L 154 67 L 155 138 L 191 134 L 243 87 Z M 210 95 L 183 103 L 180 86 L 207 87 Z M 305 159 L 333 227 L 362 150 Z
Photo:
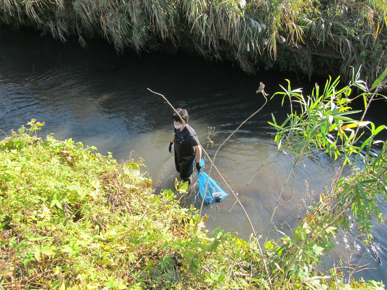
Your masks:
M 200 165 L 202 165 L 202 170 L 197 172 L 197 182 L 199 184 L 199 192 L 200 192 L 200 198 L 203 199 L 204 195 L 204 203 L 210 204 L 214 202 L 219 202 L 224 200 L 228 193 L 224 192 L 224 190 L 217 185 L 216 181 L 208 176 L 207 173 L 203 171 L 204 167 L 204 159 L 200 159 Z M 207 184 L 207 190 L 204 194 L 205 184 Z

